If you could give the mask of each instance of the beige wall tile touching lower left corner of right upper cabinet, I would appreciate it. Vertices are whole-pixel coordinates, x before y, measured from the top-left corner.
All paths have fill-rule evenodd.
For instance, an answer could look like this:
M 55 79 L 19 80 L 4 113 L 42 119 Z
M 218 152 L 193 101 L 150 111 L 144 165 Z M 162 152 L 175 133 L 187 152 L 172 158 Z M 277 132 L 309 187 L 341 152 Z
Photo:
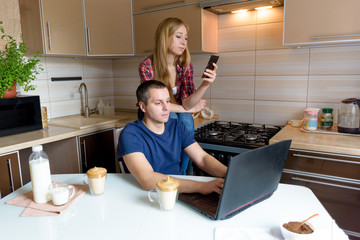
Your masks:
M 308 49 L 256 51 L 256 75 L 308 75 Z

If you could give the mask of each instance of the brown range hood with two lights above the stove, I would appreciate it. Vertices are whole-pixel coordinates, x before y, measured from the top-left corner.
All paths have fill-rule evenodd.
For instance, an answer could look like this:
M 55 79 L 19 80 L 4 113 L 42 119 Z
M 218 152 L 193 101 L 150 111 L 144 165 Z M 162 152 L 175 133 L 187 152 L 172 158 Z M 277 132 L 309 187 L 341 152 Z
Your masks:
M 252 10 L 257 7 L 279 7 L 283 5 L 284 0 L 208 0 L 200 2 L 200 7 L 216 14 L 225 14 L 241 9 Z

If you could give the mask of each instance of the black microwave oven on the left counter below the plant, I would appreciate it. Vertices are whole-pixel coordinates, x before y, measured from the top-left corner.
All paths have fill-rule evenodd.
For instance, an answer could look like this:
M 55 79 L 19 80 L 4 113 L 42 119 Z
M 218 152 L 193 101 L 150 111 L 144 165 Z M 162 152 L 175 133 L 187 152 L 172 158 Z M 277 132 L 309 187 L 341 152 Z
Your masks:
M 0 137 L 42 129 L 39 96 L 0 99 Z

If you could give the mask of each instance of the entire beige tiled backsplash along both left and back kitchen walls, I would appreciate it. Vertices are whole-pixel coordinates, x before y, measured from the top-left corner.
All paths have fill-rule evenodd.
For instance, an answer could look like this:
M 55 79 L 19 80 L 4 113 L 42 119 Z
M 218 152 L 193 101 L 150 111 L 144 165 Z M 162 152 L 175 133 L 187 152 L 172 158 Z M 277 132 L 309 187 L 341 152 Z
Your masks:
M 336 111 L 342 99 L 360 98 L 360 46 L 288 49 L 282 46 L 282 28 L 282 7 L 219 15 L 218 75 L 205 99 L 220 119 L 284 125 L 301 119 L 307 107 Z M 196 86 L 209 56 L 192 54 Z M 40 95 L 49 117 L 78 114 L 81 81 L 52 82 L 51 77 L 81 76 L 90 107 L 102 97 L 116 108 L 136 109 L 138 64 L 144 57 L 46 57 L 34 82 L 37 90 L 28 94 Z

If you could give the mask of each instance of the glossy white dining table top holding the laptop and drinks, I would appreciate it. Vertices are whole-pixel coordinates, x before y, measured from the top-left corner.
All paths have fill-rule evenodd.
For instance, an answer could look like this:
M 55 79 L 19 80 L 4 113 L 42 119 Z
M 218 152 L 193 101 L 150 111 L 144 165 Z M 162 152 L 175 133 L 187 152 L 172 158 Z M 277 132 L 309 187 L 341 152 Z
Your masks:
M 209 180 L 206 177 L 190 177 Z M 82 184 L 82 174 L 52 175 L 52 180 Z M 0 200 L 0 239 L 214 239 L 217 227 L 273 228 L 286 216 L 313 219 L 331 228 L 332 219 L 315 195 L 305 187 L 280 184 L 274 195 L 237 216 L 213 221 L 178 202 L 172 211 L 161 211 L 147 199 L 128 174 L 108 174 L 105 193 L 86 193 L 58 216 L 21 217 L 23 207 L 5 204 L 31 190 L 26 184 Z M 337 226 L 336 226 L 337 227 Z

